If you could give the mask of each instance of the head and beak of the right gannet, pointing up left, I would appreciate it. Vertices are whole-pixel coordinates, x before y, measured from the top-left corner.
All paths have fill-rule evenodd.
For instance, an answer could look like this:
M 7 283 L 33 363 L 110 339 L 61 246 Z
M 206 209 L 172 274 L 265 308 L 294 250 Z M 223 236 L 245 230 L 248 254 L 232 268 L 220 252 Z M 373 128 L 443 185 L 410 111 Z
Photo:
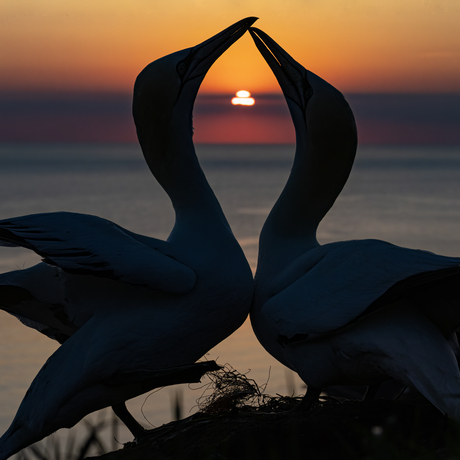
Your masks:
M 349 152 L 354 158 L 356 124 L 342 93 L 305 69 L 262 30 L 249 31 L 284 93 L 297 142 L 307 138 L 318 152 Z

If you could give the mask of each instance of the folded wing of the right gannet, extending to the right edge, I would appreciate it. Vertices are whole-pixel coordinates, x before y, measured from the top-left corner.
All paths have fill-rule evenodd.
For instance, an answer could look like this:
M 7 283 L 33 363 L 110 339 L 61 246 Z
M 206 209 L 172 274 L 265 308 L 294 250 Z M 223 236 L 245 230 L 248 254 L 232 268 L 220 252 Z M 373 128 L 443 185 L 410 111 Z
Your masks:
M 458 270 L 459 264 L 460 258 L 378 240 L 319 246 L 290 267 L 282 280 L 285 287 L 264 304 L 263 315 L 287 340 L 328 333 L 396 300 L 407 289 L 444 276 L 445 269 Z

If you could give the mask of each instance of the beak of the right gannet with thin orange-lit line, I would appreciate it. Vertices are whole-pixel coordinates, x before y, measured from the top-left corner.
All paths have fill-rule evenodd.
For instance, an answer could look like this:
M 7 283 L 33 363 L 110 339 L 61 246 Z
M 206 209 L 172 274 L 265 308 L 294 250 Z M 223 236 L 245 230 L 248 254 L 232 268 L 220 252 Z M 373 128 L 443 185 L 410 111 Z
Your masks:
M 312 88 L 308 83 L 307 70 L 294 60 L 265 32 L 255 27 L 249 29 L 260 54 L 270 66 L 286 98 L 305 111 Z

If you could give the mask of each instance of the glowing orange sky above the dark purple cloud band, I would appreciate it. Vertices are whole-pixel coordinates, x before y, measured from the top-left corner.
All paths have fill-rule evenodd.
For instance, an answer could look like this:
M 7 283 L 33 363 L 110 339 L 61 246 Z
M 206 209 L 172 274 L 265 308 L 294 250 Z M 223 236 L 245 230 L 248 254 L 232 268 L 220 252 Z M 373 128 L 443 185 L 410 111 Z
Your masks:
M 255 23 L 342 92 L 460 92 L 460 3 L 343 0 L 3 0 L 0 91 L 131 91 L 149 62 L 233 22 Z M 201 92 L 278 92 L 249 34 L 213 65 Z

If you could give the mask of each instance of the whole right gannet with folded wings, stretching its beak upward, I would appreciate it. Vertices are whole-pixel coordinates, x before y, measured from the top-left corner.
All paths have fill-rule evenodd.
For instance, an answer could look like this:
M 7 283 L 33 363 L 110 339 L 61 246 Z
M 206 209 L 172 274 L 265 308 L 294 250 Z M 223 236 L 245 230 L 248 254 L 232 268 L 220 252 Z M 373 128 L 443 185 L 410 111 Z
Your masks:
M 393 378 L 460 420 L 460 258 L 371 239 L 318 243 L 353 165 L 353 113 L 266 33 L 250 33 L 296 130 L 292 171 L 260 234 L 250 313 L 257 338 L 307 384 L 301 408 L 328 386 Z

